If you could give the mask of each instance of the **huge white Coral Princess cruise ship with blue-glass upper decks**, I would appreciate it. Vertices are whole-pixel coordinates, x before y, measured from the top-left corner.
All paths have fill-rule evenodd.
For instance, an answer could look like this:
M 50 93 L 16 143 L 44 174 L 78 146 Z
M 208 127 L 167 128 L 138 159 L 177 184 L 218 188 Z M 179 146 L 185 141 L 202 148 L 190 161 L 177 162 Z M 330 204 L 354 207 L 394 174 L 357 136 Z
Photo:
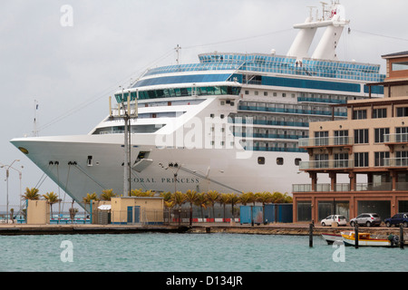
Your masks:
M 337 1 L 311 10 L 287 55 L 202 53 L 151 69 L 109 97 L 116 104 L 107 96 L 109 114 L 86 135 L 11 142 L 79 204 L 102 189 L 290 194 L 308 182 L 298 140 L 323 137 L 308 136 L 309 123 L 346 119 L 333 104 L 384 96 L 366 85 L 384 80 L 380 65 L 337 59 L 344 11 Z

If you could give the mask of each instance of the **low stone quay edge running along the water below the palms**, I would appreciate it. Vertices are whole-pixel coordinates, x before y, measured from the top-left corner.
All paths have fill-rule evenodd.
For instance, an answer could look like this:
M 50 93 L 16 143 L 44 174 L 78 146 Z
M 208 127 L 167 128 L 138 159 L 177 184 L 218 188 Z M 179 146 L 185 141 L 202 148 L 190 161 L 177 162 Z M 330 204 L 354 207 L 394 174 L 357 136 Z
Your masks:
M 373 235 L 399 235 L 399 227 L 359 227 L 360 232 Z M 313 234 L 340 233 L 354 230 L 353 227 L 320 227 L 313 228 Z M 0 235 L 74 235 L 74 234 L 136 234 L 145 232 L 157 233 L 227 233 L 252 235 L 309 235 L 309 224 L 268 224 L 260 226 L 229 224 L 229 223 L 193 223 L 179 225 L 141 226 L 141 225 L 0 225 Z M 404 229 L 405 235 L 408 235 Z M 407 240 L 408 238 L 404 238 Z

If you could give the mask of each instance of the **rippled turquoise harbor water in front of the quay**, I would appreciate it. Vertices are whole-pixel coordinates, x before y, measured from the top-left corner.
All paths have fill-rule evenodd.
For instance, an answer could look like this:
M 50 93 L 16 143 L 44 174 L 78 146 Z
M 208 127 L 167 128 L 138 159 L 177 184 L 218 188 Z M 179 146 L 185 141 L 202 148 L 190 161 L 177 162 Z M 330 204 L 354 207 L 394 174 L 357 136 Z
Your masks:
M 1 272 L 408 271 L 408 249 L 241 234 L 1 236 Z

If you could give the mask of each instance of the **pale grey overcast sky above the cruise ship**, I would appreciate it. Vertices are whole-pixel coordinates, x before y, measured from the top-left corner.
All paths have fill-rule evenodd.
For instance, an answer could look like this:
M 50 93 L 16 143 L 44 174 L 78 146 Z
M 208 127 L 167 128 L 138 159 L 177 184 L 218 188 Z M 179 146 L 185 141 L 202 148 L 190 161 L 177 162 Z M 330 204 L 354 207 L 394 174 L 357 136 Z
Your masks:
M 330 3 L 330 1 L 326 1 Z M 408 1 L 343 0 L 351 34 L 340 60 L 378 63 L 408 50 Z M 72 7 L 72 18 L 63 5 Z M 85 134 L 108 113 L 108 97 L 149 67 L 197 63 L 198 53 L 286 54 L 312 0 L 1 0 L 0 162 L 23 169 L 23 189 L 43 173 L 9 142 L 34 130 L 40 136 Z M 67 18 L 68 17 L 68 18 Z M 72 19 L 72 23 L 69 21 Z M 63 24 L 62 24 L 63 20 Z M 0 169 L 0 205 L 5 170 Z M 19 179 L 9 179 L 10 208 L 18 208 Z M 45 180 L 40 193 L 58 192 Z M 0 210 L 5 207 L 0 207 Z

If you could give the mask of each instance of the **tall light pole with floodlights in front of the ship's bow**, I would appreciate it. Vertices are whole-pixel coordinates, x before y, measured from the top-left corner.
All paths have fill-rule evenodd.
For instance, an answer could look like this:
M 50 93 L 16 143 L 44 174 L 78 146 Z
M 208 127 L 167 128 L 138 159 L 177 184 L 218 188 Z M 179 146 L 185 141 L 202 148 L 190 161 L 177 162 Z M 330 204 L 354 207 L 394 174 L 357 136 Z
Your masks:
M 131 196 L 131 120 L 138 118 L 139 92 L 136 91 L 133 108 L 131 108 L 131 91 L 128 91 L 126 102 L 123 89 L 118 113 L 112 112 L 112 97 L 109 97 L 109 119 L 124 121 L 124 162 L 123 162 L 123 197 Z

